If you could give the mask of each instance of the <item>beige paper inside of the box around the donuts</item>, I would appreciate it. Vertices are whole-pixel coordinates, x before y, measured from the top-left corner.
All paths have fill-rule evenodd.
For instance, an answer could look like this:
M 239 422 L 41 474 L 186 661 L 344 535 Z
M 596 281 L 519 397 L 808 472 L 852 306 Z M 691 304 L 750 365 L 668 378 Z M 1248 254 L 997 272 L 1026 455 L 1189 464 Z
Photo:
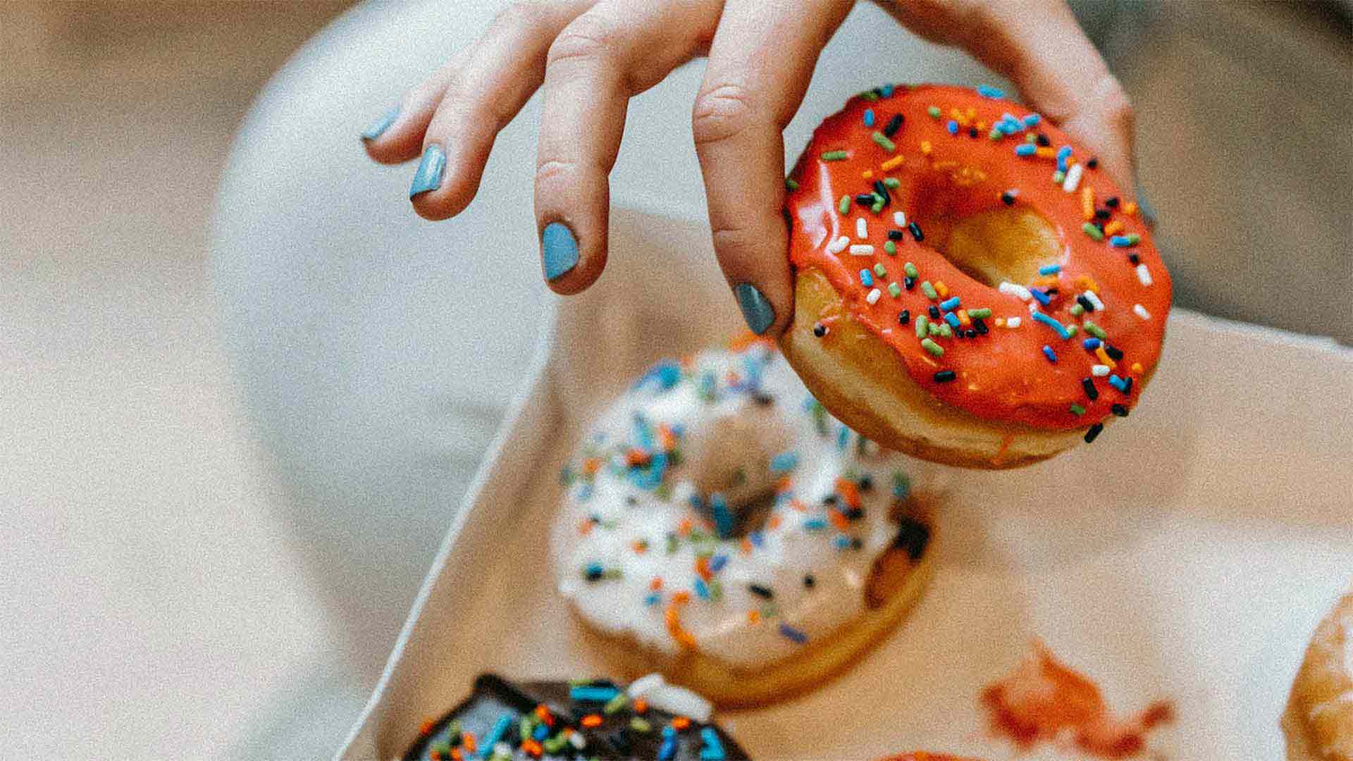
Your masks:
M 741 324 L 702 225 L 617 211 L 606 275 L 561 301 L 524 391 L 341 758 L 391 758 L 475 674 L 635 676 L 553 592 L 559 466 L 593 412 L 660 356 Z M 1043 638 L 1111 705 L 1168 697 L 1168 758 L 1280 758 L 1307 636 L 1353 574 L 1353 352 L 1176 310 L 1134 414 L 1007 473 L 950 469 L 935 581 L 842 677 L 724 712 L 756 758 L 904 750 L 1011 758 L 980 689 Z M 613 649 L 612 649 L 613 650 Z M 1047 749 L 1023 758 L 1074 758 Z

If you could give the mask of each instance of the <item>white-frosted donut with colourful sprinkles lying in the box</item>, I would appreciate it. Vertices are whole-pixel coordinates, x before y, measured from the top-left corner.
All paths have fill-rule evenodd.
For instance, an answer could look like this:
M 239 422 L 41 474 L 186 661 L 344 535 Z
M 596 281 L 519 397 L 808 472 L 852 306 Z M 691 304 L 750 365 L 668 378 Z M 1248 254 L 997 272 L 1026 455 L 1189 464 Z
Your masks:
M 832 418 L 767 343 L 659 363 L 566 466 L 559 590 L 716 701 L 801 691 L 921 588 L 913 463 Z

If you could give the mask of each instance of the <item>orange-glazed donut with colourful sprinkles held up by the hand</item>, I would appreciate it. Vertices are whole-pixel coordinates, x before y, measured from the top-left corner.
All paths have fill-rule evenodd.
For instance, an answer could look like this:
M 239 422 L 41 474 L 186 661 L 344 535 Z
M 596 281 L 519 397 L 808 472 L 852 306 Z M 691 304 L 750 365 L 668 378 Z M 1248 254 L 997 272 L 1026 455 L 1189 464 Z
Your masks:
M 879 444 L 985 469 L 1050 458 L 1126 417 L 1170 306 L 1137 204 L 1003 97 L 861 93 L 786 180 L 790 364 Z

